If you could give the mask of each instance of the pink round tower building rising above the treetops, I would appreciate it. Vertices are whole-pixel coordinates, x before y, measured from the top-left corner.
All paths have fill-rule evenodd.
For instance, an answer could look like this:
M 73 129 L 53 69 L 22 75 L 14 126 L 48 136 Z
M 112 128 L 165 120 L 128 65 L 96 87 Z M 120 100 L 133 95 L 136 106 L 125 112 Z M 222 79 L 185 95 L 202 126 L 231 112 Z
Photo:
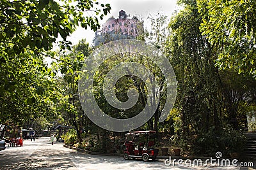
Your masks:
M 138 18 L 128 18 L 125 11 L 119 11 L 118 18 L 110 17 L 102 25 L 101 31 L 95 32 L 95 46 L 117 39 L 136 38 L 143 33 L 143 22 Z

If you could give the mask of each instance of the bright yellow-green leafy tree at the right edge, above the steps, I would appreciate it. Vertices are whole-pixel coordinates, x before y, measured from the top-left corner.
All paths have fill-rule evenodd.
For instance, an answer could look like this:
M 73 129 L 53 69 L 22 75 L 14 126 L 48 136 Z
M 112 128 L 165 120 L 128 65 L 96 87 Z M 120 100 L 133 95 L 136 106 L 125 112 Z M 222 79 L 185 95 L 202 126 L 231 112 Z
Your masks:
M 214 62 L 223 70 L 224 112 L 229 120 L 246 119 L 247 108 L 255 104 L 255 1 L 196 2 L 202 16 L 200 31 L 215 46 Z

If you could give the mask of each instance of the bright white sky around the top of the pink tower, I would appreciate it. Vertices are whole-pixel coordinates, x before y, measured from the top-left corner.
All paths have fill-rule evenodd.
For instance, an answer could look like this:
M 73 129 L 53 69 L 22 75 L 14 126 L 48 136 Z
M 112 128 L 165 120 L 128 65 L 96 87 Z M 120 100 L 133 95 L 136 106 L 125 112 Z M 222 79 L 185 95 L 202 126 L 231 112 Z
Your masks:
M 109 3 L 111 6 L 110 14 L 105 16 L 103 20 L 99 20 L 100 25 L 104 24 L 111 16 L 117 18 L 120 10 L 124 10 L 130 17 L 136 15 L 139 18 L 147 18 L 150 15 L 154 17 L 157 13 L 171 17 L 175 10 L 179 10 L 176 0 L 99 0 L 99 3 Z M 147 25 L 147 21 L 144 20 L 144 22 Z M 67 40 L 76 45 L 79 40 L 86 38 L 87 42 L 92 45 L 94 36 L 95 32 L 91 31 L 90 28 L 85 30 L 79 27 Z

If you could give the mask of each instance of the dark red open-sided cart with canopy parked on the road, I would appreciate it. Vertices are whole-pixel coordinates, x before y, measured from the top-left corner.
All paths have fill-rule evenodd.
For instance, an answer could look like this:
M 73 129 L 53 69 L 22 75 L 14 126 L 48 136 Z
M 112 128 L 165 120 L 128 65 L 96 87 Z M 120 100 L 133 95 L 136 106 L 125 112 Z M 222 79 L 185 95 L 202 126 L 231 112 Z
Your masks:
M 148 159 L 156 159 L 159 151 L 154 148 L 156 131 L 134 131 L 128 132 L 125 135 L 125 160 L 140 158 L 146 162 Z

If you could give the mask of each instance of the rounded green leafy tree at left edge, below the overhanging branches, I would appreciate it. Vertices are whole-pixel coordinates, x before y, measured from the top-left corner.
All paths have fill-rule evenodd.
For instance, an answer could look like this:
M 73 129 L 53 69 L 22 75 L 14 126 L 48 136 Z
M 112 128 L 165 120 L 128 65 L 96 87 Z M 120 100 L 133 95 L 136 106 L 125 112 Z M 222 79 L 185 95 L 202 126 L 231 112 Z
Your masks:
M 55 117 L 52 106 L 58 92 L 54 72 L 38 55 L 23 53 L 1 63 L 0 122 L 22 124 L 36 117 Z

